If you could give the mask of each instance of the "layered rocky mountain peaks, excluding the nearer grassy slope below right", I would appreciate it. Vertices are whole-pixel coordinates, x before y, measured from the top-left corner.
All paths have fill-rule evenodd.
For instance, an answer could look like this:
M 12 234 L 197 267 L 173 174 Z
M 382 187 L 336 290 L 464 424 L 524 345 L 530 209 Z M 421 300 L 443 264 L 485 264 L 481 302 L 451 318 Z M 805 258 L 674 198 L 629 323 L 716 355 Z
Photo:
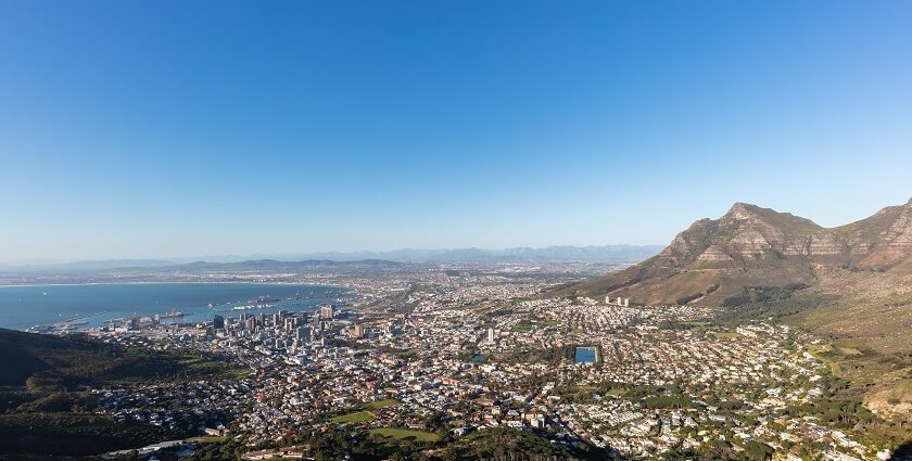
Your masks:
M 736 203 L 719 219 L 694 222 L 657 256 L 575 291 L 643 304 L 736 305 L 787 295 L 832 270 L 912 271 L 912 200 L 832 229 Z

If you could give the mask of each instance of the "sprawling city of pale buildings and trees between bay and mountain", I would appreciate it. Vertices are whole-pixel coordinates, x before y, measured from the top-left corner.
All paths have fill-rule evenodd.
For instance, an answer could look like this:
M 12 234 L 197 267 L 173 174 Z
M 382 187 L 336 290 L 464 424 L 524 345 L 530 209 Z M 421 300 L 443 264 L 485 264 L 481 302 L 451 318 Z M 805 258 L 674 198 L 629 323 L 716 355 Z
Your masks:
M 198 351 L 243 370 L 97 389 L 100 411 L 160 426 L 199 421 L 208 436 L 242 443 L 251 460 L 313 458 L 314 447 L 290 437 L 302 432 L 434 441 L 497 427 L 625 459 L 719 441 L 796 461 L 889 458 L 863 434 L 799 411 L 832 385 L 812 354 L 815 338 L 762 319 L 722 326 L 708 307 L 554 297 L 559 280 L 527 269 L 302 276 L 293 280 L 344 286 L 353 300 L 91 330 L 104 342 Z M 425 454 L 439 454 L 430 447 Z M 193 450 L 176 440 L 140 453 L 167 448 Z

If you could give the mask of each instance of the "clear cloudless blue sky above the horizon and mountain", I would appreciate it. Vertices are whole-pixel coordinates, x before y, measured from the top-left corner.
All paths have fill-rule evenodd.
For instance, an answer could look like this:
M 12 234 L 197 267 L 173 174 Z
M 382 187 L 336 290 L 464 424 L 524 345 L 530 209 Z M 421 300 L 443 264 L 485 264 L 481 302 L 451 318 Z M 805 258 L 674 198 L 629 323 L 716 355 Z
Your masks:
M 912 3 L 4 1 L 0 260 L 667 243 L 912 195 Z

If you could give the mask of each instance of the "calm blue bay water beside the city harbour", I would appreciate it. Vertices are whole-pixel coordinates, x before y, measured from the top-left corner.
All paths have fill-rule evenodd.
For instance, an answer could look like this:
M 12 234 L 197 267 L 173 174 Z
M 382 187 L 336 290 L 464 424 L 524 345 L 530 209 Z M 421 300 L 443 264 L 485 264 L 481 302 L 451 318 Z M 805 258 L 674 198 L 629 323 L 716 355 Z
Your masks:
M 175 320 L 198 322 L 216 313 L 237 317 L 241 311 L 232 310 L 235 307 L 252 305 L 259 297 L 269 307 L 248 312 L 311 311 L 319 305 L 337 304 L 347 293 L 347 289 L 335 286 L 263 283 L 2 286 L 0 328 L 24 330 L 74 318 L 86 322 L 83 326 L 99 326 L 110 319 L 164 315 L 172 309 L 186 315 Z

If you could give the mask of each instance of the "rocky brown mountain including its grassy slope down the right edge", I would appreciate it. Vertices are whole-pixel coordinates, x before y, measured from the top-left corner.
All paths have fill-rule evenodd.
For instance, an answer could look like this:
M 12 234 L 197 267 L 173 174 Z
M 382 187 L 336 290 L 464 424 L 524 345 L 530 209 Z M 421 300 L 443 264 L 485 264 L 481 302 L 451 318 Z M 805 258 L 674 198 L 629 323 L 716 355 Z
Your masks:
M 723 306 L 714 321 L 798 326 L 851 383 L 843 396 L 883 418 L 912 414 L 912 201 L 836 228 L 736 203 L 658 255 L 559 294 Z

